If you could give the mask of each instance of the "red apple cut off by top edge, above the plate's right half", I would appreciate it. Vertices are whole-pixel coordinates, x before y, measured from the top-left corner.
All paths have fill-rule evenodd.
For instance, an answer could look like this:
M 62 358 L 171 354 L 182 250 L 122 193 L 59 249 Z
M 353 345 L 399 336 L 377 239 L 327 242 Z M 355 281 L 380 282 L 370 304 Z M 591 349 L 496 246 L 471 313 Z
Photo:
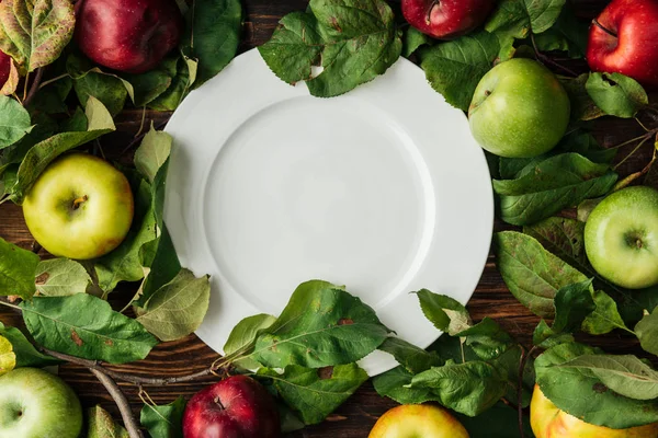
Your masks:
M 495 0 L 402 0 L 402 14 L 434 38 L 454 38 L 483 24 Z

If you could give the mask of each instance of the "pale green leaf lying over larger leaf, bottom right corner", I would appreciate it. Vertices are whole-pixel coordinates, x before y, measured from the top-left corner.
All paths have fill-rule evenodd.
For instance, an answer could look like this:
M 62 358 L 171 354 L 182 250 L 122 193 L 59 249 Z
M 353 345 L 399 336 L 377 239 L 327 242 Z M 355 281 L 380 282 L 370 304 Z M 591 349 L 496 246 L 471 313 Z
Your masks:
M 583 355 L 557 367 L 590 371 L 612 391 L 629 399 L 658 399 L 658 372 L 635 356 Z

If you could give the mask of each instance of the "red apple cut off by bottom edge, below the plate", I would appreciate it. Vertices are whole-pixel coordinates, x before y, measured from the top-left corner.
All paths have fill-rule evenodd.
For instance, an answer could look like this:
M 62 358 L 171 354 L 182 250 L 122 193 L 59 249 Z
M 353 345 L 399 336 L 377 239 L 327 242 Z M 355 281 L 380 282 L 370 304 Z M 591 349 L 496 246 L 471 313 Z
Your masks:
M 234 376 L 194 394 L 183 414 L 183 436 L 279 438 L 279 411 L 259 382 Z

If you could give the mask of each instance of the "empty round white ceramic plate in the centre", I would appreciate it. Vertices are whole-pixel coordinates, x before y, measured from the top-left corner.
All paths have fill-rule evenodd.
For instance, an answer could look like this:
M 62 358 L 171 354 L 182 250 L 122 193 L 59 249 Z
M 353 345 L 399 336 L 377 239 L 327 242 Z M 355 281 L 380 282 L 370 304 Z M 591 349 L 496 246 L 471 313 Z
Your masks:
M 192 92 L 167 131 L 164 220 L 181 263 L 211 275 L 196 334 L 215 350 L 308 279 L 345 285 L 421 347 L 440 332 L 409 292 L 470 298 L 491 241 L 487 163 L 464 114 L 410 61 L 327 100 L 279 80 L 254 49 Z M 374 376 L 396 362 L 376 351 L 361 365 Z

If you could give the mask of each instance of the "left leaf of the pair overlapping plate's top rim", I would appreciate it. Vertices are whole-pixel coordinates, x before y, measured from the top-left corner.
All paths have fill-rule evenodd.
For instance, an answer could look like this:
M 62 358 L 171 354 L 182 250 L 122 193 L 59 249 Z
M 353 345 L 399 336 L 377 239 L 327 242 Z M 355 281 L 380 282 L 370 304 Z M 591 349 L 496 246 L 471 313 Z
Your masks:
M 320 59 L 324 48 L 318 21 L 310 13 L 293 12 L 279 24 L 258 50 L 279 79 L 287 83 L 310 79 L 310 67 Z

